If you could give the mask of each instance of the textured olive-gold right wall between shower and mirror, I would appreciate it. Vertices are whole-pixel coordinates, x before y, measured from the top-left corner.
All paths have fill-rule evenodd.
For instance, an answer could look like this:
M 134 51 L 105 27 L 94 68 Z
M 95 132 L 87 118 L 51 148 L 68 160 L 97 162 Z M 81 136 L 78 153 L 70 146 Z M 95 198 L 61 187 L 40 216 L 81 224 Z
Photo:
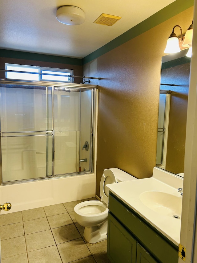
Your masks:
M 83 65 L 97 84 L 97 186 L 103 169 L 118 167 L 137 178 L 152 176 L 156 159 L 161 57 L 175 25 L 183 33 L 193 7 Z M 175 29 L 177 35 L 179 29 Z

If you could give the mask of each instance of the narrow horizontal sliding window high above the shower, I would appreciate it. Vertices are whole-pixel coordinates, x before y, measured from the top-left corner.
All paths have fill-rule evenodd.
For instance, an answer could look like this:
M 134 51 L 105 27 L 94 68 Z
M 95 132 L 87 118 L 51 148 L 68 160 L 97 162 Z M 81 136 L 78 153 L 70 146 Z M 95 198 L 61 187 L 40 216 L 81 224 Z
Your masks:
M 6 70 L 19 72 L 6 72 L 7 79 L 15 80 L 37 80 L 37 81 L 63 81 L 73 83 L 73 70 L 60 68 L 43 68 L 36 66 L 17 65 L 6 63 Z M 22 73 L 22 71 L 30 73 Z M 60 76 L 58 76 L 60 75 Z M 63 76 L 62 76 L 63 75 Z

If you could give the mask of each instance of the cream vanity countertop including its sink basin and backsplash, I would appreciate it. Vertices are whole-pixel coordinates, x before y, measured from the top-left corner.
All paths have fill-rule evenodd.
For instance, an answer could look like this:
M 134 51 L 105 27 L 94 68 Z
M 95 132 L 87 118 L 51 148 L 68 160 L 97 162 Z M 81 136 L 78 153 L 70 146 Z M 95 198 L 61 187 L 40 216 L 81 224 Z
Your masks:
M 182 196 L 177 189 L 183 187 L 183 178 L 154 169 L 151 178 L 108 184 L 107 188 L 179 246 L 181 219 L 173 215 L 181 217 Z M 168 204 L 172 209 L 168 209 Z

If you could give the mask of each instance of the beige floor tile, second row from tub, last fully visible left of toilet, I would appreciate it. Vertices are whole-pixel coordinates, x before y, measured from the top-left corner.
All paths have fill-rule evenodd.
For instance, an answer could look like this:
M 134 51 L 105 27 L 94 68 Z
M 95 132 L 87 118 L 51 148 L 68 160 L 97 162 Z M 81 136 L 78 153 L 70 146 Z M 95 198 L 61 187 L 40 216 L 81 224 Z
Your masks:
M 59 214 L 55 216 L 47 216 L 50 228 L 57 228 L 73 224 L 73 221 L 68 213 Z

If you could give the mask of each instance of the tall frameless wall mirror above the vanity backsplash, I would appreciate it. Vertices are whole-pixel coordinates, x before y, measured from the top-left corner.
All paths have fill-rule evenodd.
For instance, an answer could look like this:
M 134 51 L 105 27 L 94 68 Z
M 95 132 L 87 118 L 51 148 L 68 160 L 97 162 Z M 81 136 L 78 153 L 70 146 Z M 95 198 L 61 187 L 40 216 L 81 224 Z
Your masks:
M 162 57 L 156 166 L 183 176 L 190 75 L 188 49 Z

